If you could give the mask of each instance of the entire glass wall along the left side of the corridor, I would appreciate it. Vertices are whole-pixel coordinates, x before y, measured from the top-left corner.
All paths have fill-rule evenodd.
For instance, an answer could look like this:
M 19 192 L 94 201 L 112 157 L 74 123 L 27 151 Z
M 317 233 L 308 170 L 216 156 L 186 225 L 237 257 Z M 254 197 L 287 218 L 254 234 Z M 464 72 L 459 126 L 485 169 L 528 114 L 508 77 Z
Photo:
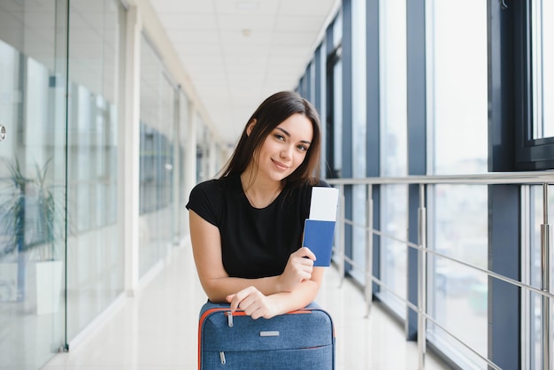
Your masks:
M 38 369 L 67 351 L 122 296 L 126 272 L 144 277 L 186 235 L 190 103 L 146 37 L 140 60 L 125 59 L 127 29 L 119 0 L 0 0 L 0 368 Z M 132 266 L 118 163 L 139 137 L 118 135 L 135 108 L 122 104 L 126 67 L 138 64 L 141 118 L 126 123 L 141 127 Z

